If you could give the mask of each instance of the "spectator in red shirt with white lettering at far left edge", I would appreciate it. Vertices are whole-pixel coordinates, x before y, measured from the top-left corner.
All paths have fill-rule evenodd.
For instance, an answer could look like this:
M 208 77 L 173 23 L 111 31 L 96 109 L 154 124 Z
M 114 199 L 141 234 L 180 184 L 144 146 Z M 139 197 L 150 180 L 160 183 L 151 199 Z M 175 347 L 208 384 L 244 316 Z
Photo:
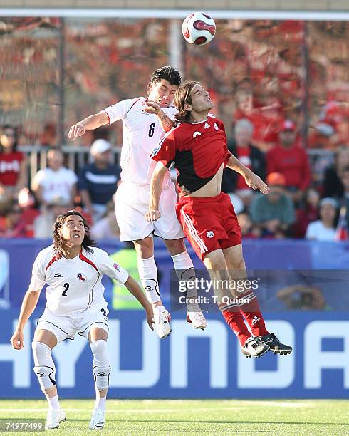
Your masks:
M 0 196 L 16 199 L 19 190 L 26 186 L 26 158 L 17 151 L 18 130 L 4 125 L 0 135 Z

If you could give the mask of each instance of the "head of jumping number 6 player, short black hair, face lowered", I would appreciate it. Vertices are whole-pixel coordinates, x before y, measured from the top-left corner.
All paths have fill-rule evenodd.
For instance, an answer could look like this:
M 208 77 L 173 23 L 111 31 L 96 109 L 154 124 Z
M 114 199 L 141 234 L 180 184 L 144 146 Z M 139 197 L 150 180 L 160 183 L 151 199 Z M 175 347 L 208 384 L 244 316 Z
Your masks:
M 162 108 L 168 108 L 181 82 L 182 76 L 172 66 L 158 68 L 152 73 L 148 83 L 150 100 L 159 103 Z

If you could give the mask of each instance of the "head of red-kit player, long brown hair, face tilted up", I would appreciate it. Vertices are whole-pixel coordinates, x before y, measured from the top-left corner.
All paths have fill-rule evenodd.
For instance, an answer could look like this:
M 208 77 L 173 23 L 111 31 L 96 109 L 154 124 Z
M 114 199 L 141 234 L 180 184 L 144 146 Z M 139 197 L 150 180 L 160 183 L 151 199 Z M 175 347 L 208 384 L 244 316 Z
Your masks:
M 199 82 L 187 81 L 175 93 L 175 107 L 178 110 L 175 119 L 189 123 L 194 113 L 208 113 L 213 108 L 213 103 L 209 92 Z

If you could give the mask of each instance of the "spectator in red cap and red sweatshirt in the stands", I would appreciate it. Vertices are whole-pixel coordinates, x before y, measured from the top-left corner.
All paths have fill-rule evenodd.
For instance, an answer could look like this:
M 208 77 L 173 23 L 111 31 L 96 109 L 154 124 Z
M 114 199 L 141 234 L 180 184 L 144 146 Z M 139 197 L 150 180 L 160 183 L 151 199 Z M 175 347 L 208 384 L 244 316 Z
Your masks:
M 266 155 L 268 174 L 280 172 L 285 176 L 286 193 L 294 202 L 300 202 L 311 181 L 308 155 L 296 141 L 296 125 L 291 120 L 283 122 L 279 145 Z

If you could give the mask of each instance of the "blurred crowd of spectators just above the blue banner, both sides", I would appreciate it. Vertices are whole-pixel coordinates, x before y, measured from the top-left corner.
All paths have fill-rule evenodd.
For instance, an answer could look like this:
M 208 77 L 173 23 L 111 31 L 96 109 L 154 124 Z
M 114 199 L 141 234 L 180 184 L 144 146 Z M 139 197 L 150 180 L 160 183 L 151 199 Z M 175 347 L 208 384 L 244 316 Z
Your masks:
M 275 134 L 276 145 L 263 151 L 254 144 L 253 123 L 241 118 L 228 142 L 229 150 L 271 187 L 265 196 L 251 190 L 241 175 L 224 170 L 222 190 L 231 197 L 243 237 L 348 239 L 349 145 L 338 146 L 333 163 L 321 177 L 313 177 L 298 126 L 284 120 Z M 81 167 L 67 167 L 63 151 L 48 147 L 43 151 L 47 166 L 31 177 L 28 156 L 18 143 L 18 129 L 2 126 L 0 237 L 50 238 L 56 217 L 75 207 L 90 222 L 93 237 L 118 239 L 114 194 L 120 167 L 113 162 L 108 139 L 93 141 Z

